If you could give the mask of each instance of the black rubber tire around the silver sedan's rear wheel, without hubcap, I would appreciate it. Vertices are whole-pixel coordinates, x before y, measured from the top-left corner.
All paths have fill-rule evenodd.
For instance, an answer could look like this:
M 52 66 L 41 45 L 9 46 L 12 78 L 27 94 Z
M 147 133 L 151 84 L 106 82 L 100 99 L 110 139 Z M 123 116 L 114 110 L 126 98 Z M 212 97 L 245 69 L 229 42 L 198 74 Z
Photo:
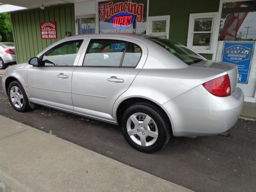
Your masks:
M 128 134 L 127 126 L 128 120 L 132 114 L 138 114 L 143 113 L 151 117 L 152 120 L 154 120 L 157 128 L 158 128 L 158 137 L 156 138 L 156 141 L 154 144 L 150 146 L 142 146 L 134 142 L 132 140 L 131 136 Z M 138 119 L 138 116 L 137 116 Z M 129 124 L 129 123 L 128 123 Z M 130 106 L 124 114 L 122 115 L 121 119 L 121 126 L 122 126 L 122 133 L 124 135 L 124 138 L 126 141 L 136 150 L 144 152 L 144 153 L 154 153 L 160 149 L 162 149 L 169 141 L 171 136 L 171 126 L 168 120 L 168 117 L 166 117 L 166 114 L 164 114 L 158 107 L 154 106 L 153 104 L 150 104 L 148 102 L 140 102 L 133 104 Z M 135 126 L 135 125 L 134 125 Z M 149 125 L 148 125 L 149 126 Z M 139 130 L 139 127 L 134 127 L 134 129 Z M 151 128 L 150 128 L 151 130 Z M 141 130 L 143 133 L 143 129 Z M 138 135 L 136 134 L 135 137 L 138 139 Z M 148 137 L 148 136 L 147 136 Z M 149 138 L 150 139 L 150 138 Z M 136 140 L 136 139 L 135 139 Z M 139 139 L 140 140 L 140 139 Z M 146 138 L 147 140 L 147 138 Z

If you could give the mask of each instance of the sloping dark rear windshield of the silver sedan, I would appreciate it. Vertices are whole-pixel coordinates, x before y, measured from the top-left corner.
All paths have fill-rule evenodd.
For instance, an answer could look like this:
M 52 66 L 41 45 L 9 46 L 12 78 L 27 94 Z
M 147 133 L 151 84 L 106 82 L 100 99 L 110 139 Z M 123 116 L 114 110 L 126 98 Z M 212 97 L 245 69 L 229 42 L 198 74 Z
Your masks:
M 158 37 L 146 37 L 149 40 L 152 40 L 156 44 L 165 48 L 178 58 L 180 58 L 183 62 L 188 65 L 192 65 L 201 61 L 204 61 L 205 58 L 202 56 L 192 52 L 190 49 L 186 48 L 184 45 L 170 41 L 168 39 L 162 39 Z

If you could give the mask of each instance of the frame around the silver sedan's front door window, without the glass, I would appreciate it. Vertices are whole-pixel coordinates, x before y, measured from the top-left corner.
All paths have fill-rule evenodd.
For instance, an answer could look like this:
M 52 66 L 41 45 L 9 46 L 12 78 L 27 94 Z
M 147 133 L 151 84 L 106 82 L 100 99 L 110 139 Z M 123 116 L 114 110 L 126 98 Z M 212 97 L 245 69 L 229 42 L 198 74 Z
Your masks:
M 68 44 L 68 43 L 72 43 L 72 42 L 78 42 L 78 41 L 82 41 L 81 43 L 81 46 L 76 54 L 76 58 L 74 60 L 74 64 L 73 65 L 53 65 L 53 66 L 43 66 L 42 65 L 42 60 L 43 60 L 43 57 L 44 57 L 44 54 L 46 54 L 47 52 L 49 52 L 50 50 L 54 49 L 54 48 L 59 48 L 60 46 L 62 46 L 63 44 Z M 84 47 L 84 43 L 85 43 L 86 40 L 84 40 L 83 38 L 81 39 L 74 39 L 74 40 L 69 40 L 69 41 L 64 41 L 64 42 L 60 42 L 59 44 L 55 45 L 55 46 L 49 46 L 48 49 L 43 52 L 39 57 L 38 57 L 38 61 L 39 61 L 39 67 L 74 67 L 74 66 L 77 66 L 77 64 L 75 65 L 75 63 L 78 62 L 78 55 L 80 57 L 80 52 L 82 52 L 83 50 L 83 47 Z

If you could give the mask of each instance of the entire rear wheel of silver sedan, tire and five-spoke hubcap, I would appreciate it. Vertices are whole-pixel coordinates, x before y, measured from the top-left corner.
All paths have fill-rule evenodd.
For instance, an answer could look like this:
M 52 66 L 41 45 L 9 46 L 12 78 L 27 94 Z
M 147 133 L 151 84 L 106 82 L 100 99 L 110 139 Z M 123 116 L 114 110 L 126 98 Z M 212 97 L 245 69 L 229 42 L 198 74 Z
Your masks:
M 126 141 L 141 152 L 156 152 L 170 139 L 166 115 L 147 102 L 130 106 L 122 115 L 121 125 Z

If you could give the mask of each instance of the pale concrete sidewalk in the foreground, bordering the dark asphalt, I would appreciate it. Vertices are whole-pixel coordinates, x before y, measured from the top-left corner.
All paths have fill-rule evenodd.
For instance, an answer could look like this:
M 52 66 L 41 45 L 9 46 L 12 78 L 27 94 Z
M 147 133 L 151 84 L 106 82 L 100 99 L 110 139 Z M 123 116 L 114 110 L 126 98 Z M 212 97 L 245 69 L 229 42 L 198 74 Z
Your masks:
M 192 192 L 4 116 L 0 122 L 0 181 L 16 192 Z

